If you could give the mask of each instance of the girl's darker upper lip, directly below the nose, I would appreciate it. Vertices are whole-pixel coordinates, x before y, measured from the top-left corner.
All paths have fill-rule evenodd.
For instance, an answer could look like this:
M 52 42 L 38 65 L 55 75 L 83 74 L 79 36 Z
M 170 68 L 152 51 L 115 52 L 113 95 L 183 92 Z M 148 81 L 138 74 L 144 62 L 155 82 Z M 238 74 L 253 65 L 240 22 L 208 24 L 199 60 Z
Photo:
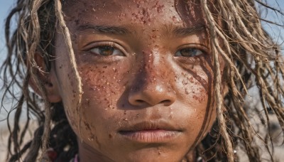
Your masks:
M 165 131 L 182 131 L 182 129 L 178 128 L 177 126 L 173 126 L 173 124 L 170 124 L 164 120 L 141 121 L 136 124 L 121 126 L 121 129 L 119 129 L 119 131 L 145 131 L 156 129 L 163 129 Z

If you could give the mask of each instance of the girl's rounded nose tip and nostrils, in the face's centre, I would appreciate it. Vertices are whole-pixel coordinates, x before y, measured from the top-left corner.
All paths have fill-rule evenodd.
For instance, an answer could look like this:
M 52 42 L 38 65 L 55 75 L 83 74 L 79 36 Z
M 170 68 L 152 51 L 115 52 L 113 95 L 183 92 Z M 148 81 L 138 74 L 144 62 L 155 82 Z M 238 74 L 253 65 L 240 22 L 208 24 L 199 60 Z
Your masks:
M 156 104 L 170 106 L 175 102 L 175 91 L 170 85 L 170 80 L 167 81 L 163 77 L 146 72 L 146 75 L 140 75 L 140 79 L 134 82 L 129 92 L 129 103 L 133 106 L 143 107 Z

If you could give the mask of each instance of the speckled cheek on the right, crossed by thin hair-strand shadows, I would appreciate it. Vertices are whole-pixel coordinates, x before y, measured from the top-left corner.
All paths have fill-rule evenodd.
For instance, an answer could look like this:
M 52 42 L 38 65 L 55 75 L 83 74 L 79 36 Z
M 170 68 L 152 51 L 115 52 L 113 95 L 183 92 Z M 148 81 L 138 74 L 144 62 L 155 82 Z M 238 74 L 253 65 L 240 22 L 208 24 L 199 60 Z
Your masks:
M 179 91 L 177 95 L 187 107 L 190 116 L 185 117 L 185 121 L 189 123 L 192 136 L 196 136 L 190 139 L 195 140 L 196 145 L 207 134 L 216 118 L 212 71 L 207 65 L 185 65 L 182 69 L 183 72 L 176 73 L 175 76 Z

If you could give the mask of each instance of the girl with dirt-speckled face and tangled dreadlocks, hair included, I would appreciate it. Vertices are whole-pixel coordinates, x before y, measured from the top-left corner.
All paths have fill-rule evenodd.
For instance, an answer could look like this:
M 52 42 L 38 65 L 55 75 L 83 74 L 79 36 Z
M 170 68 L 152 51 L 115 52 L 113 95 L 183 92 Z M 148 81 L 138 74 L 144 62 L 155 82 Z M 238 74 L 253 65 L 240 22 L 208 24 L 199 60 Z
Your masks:
M 17 101 L 9 161 L 238 161 L 237 148 L 261 161 L 255 136 L 273 161 L 268 113 L 284 129 L 284 67 L 256 4 L 266 6 L 18 0 L 1 68 L 4 97 Z M 244 104 L 253 85 L 261 109 Z M 249 112 L 260 112 L 265 136 Z M 31 117 L 38 128 L 24 144 Z

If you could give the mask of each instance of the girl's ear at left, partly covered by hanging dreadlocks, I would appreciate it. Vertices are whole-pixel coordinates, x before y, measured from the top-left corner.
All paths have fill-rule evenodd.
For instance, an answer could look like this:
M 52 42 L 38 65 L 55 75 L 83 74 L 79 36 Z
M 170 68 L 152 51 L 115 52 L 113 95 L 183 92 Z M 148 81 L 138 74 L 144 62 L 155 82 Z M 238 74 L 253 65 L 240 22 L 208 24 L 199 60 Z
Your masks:
M 60 93 L 58 91 L 58 82 L 56 80 L 55 70 L 51 68 L 50 72 L 46 71 L 46 65 L 43 56 L 41 53 L 35 52 L 35 63 L 37 63 L 38 68 L 36 70 L 36 74 L 38 75 L 38 79 L 43 83 L 43 88 L 45 89 L 48 97 L 48 102 L 56 103 L 62 100 Z M 43 70 L 43 71 L 42 71 Z M 33 88 L 33 90 L 40 96 L 42 96 L 38 84 L 35 82 L 35 78 L 31 77 L 29 80 L 29 85 Z

